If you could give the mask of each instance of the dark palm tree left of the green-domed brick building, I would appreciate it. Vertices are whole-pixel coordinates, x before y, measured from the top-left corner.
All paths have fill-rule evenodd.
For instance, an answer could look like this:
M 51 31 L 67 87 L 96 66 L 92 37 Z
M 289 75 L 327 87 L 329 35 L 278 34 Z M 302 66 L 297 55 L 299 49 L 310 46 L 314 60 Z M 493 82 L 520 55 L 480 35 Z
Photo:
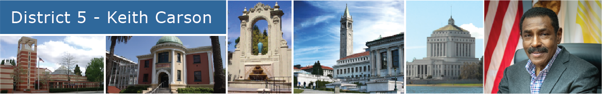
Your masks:
M 108 36 L 108 39 L 111 39 L 111 51 L 109 52 L 109 56 L 107 59 L 107 62 L 105 62 L 105 64 L 107 65 L 107 68 L 105 69 L 109 69 L 109 71 L 105 71 L 107 73 L 105 73 L 107 76 L 105 76 L 105 79 L 110 79 L 109 77 L 111 76 L 111 70 L 113 70 L 113 64 L 111 64 L 110 62 L 113 61 L 113 55 L 114 55 L 114 51 L 115 51 L 115 43 L 128 43 L 128 40 L 131 39 L 132 36 Z M 108 86 L 105 86 L 105 90 L 108 90 Z M 108 92 L 107 92 L 108 93 Z

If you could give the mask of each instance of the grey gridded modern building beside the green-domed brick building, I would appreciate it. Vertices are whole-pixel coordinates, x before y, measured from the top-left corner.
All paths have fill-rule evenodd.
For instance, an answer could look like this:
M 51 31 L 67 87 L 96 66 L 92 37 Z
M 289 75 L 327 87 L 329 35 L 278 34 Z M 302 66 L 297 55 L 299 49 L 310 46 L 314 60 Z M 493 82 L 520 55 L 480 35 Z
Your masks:
M 109 52 L 106 51 L 105 59 L 108 60 Z M 108 86 L 115 86 L 118 89 L 126 89 L 128 86 L 135 86 L 138 82 L 138 63 L 119 55 L 113 55 L 113 69 L 110 69 L 110 78 L 107 79 Z

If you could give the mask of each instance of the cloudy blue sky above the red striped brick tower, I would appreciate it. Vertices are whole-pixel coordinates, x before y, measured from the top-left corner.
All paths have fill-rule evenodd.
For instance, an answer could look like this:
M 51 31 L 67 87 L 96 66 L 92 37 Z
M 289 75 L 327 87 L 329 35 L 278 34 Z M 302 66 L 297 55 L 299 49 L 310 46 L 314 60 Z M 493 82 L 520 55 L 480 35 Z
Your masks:
M 22 36 L 0 36 L 0 59 L 16 59 L 17 42 Z M 40 61 L 40 68 L 55 71 L 62 62 L 65 52 L 75 56 L 80 70 L 85 72 L 87 63 L 92 58 L 104 57 L 104 36 L 27 36 L 38 40 L 37 54 L 44 62 Z M 5 63 L 5 65 L 10 65 Z

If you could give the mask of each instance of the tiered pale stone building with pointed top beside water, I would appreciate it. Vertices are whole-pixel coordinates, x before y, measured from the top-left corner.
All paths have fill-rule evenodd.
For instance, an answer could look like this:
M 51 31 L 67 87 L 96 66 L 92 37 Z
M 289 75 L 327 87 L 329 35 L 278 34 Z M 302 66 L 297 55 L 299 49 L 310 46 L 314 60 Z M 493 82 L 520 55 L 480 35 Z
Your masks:
M 462 65 L 479 63 L 474 43 L 470 32 L 450 16 L 446 26 L 427 37 L 427 57 L 408 62 L 407 79 L 459 79 Z

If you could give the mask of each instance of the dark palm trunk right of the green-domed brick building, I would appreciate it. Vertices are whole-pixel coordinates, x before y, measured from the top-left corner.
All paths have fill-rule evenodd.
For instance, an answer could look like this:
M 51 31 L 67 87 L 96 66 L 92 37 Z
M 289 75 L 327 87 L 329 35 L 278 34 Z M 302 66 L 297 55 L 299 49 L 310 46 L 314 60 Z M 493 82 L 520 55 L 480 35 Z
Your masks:
M 226 93 L 226 77 L 224 76 L 223 65 L 222 65 L 222 52 L 220 50 L 220 38 L 218 36 L 211 37 L 211 47 L 213 49 L 213 66 L 216 70 L 216 75 L 213 76 L 214 86 L 213 93 Z

